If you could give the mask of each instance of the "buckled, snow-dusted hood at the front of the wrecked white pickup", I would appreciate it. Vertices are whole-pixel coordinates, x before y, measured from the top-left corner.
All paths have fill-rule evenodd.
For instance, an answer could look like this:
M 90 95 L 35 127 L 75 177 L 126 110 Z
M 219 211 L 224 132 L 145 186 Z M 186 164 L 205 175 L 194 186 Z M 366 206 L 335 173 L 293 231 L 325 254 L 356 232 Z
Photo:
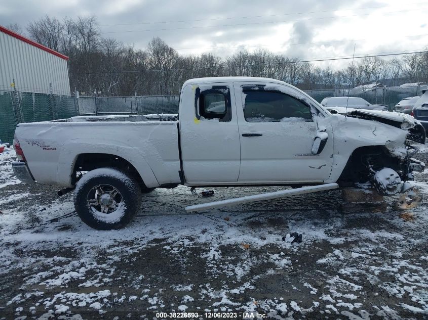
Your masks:
M 380 111 L 380 110 L 367 110 L 367 109 L 354 109 L 344 107 L 328 107 L 326 108 L 332 114 L 341 114 L 349 117 L 360 118 L 363 120 L 377 121 L 384 124 L 392 125 L 396 128 L 409 131 L 407 139 L 425 144 L 426 133 L 422 124 L 409 114 Z

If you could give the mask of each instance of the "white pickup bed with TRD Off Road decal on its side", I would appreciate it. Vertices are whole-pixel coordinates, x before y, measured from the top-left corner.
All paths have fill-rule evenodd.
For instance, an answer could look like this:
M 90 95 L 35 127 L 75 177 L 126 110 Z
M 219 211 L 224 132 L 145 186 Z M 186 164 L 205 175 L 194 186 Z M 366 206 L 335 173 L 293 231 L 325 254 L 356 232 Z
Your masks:
M 124 158 L 147 187 L 180 182 L 174 115 L 86 116 L 18 124 L 16 136 L 37 182 L 71 186 L 80 154 Z

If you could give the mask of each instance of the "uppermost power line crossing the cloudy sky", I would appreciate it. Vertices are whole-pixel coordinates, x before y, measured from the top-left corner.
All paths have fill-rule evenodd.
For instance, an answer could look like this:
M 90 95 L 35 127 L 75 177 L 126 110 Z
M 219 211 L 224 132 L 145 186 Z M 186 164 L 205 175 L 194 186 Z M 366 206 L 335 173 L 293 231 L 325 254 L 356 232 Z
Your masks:
M 407 5 L 422 5 L 425 2 L 410 3 Z M 127 25 L 139 25 L 139 24 L 160 24 L 160 23 L 180 23 L 180 22 L 200 22 L 200 21 L 217 21 L 217 20 L 231 20 L 231 19 L 247 19 L 247 18 L 265 18 L 265 17 L 278 17 L 278 16 L 291 16 L 291 15 L 303 15 L 312 13 L 325 13 L 335 11 L 349 11 L 349 10 L 365 10 L 365 9 L 379 9 L 388 8 L 390 6 L 377 6 L 377 7 L 362 7 L 362 8 L 349 8 L 349 9 L 335 9 L 335 10 L 323 10 L 323 11 L 307 11 L 307 12 L 295 12 L 295 13 L 284 13 L 276 15 L 259 15 L 259 16 L 244 16 L 244 17 L 226 17 L 226 18 L 211 18 L 211 19 L 197 19 L 197 20 L 171 20 L 171 21 L 158 21 L 158 22 L 134 22 L 134 23 L 116 23 L 116 24 L 101 24 L 101 27 L 110 26 L 127 26 Z

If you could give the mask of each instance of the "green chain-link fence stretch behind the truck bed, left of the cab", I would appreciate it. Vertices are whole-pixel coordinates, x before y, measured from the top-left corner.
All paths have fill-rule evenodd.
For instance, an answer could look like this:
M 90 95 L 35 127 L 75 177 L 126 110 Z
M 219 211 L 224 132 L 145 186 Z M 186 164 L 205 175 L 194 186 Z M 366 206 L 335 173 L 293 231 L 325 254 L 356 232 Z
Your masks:
M 79 115 L 178 113 L 178 96 L 80 97 L 0 90 L 0 140 L 12 143 L 16 125 Z

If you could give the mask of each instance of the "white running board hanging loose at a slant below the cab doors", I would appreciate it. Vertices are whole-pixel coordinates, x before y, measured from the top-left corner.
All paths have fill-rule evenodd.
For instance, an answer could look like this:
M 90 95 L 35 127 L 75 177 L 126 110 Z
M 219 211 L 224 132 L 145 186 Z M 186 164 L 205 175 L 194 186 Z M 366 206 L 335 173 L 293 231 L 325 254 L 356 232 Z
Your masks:
M 234 199 L 228 199 L 228 200 L 202 203 L 194 206 L 187 206 L 185 209 L 186 209 L 186 212 L 201 211 L 205 209 L 231 206 L 234 204 L 248 203 L 248 202 L 275 199 L 275 198 L 295 196 L 295 195 L 304 195 L 306 193 L 333 190 L 338 188 L 339 188 L 338 184 L 325 184 L 320 186 L 309 186 L 309 187 L 302 187 L 297 189 L 287 189 L 287 190 L 276 191 L 276 192 L 262 193 L 262 194 L 253 195 L 253 196 L 245 196 L 242 198 L 234 198 Z

